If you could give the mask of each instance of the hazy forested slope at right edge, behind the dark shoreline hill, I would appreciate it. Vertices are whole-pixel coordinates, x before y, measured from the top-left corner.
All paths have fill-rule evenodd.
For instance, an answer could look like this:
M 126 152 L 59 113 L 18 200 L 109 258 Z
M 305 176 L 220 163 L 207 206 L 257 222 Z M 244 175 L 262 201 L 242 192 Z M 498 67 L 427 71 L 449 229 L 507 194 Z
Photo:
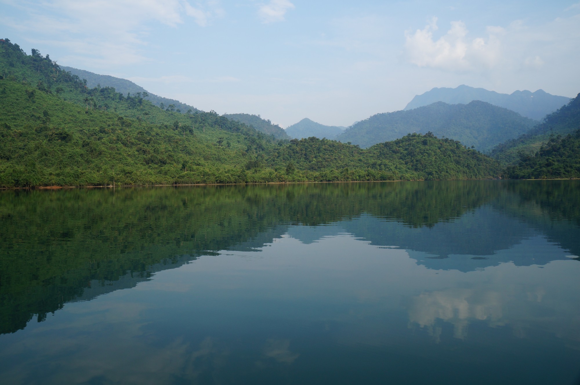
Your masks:
M 499 144 L 491 156 L 504 164 L 515 164 L 521 157 L 533 156 L 553 136 L 567 136 L 580 129 L 580 93 L 570 103 L 546 116 L 542 124 L 529 132 Z

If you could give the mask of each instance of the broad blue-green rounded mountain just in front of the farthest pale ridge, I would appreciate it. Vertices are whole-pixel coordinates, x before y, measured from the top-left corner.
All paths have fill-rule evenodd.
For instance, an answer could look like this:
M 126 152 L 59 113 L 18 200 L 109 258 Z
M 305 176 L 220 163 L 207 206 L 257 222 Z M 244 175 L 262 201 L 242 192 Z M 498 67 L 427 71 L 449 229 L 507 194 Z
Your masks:
M 343 142 L 369 147 L 394 140 L 409 132 L 433 132 L 461 141 L 468 147 L 489 151 L 503 141 L 527 132 L 537 122 L 517 112 L 484 101 L 447 104 L 439 101 L 409 111 L 376 114 L 354 124 L 336 137 Z

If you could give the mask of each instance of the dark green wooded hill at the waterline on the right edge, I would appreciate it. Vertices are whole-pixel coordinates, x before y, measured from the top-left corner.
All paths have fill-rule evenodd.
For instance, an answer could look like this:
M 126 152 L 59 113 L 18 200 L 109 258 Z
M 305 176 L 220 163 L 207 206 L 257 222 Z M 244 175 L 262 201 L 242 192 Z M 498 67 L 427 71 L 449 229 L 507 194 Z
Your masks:
M 523 156 L 506 169 L 510 179 L 558 179 L 580 177 L 580 130 L 565 137 L 557 135 L 535 155 Z

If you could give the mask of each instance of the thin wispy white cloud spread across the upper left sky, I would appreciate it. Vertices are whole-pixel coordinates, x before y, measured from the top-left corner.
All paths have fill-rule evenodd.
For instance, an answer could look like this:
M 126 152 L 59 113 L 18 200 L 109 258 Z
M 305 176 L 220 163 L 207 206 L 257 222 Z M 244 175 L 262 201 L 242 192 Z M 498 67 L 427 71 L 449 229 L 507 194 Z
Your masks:
M 3 17 L 2 24 L 44 36 L 29 39 L 31 42 L 66 46 L 71 53 L 61 57 L 61 62 L 71 60 L 92 66 L 147 60 L 140 47 L 146 45 L 144 37 L 152 22 L 176 27 L 193 19 L 205 27 L 223 14 L 216 0 L 195 7 L 187 0 L 25 0 L 9 5 L 26 16 L 20 20 Z

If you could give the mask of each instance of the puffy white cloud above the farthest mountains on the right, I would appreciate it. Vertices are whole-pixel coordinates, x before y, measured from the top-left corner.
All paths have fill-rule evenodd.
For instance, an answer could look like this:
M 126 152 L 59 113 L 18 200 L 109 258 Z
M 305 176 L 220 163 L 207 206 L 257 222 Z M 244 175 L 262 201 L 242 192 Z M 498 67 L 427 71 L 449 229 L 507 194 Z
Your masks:
M 405 32 L 408 60 L 419 67 L 433 67 L 451 71 L 482 70 L 494 67 L 501 60 L 501 27 L 487 27 L 487 37 L 467 38 L 462 21 L 452 21 L 451 28 L 437 40 L 437 17 L 414 34 Z

